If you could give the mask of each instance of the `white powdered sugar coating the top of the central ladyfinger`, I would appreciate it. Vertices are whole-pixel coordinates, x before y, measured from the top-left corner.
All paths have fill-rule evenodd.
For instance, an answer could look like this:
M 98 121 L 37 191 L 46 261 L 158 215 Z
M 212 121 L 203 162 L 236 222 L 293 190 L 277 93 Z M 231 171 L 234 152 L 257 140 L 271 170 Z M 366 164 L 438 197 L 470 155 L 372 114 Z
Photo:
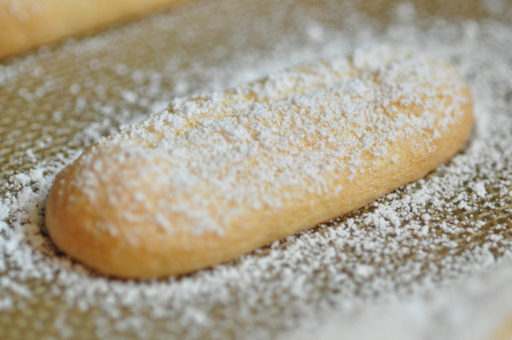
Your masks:
M 429 148 L 431 131 L 445 133 L 464 113 L 463 89 L 455 70 L 426 56 L 357 50 L 350 59 L 316 60 L 226 92 L 176 99 L 168 111 L 94 145 L 78 160 L 77 176 L 59 187 L 74 193 L 73 210 L 88 210 L 84 202 L 94 210 L 124 206 L 125 220 L 113 221 L 111 233 L 134 222 L 222 234 L 246 207 L 264 214 L 263 207 L 279 210 L 308 193 L 343 196 L 328 178 L 373 172 L 367 155 L 386 160 L 399 140 L 423 136 Z M 188 222 L 170 225 L 163 214 Z

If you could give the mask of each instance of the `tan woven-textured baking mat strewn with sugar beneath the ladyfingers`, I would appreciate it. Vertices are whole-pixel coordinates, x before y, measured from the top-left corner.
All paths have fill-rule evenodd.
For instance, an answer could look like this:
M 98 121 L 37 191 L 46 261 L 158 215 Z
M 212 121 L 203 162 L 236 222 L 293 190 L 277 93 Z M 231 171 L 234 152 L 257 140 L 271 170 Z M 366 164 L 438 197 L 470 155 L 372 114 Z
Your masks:
M 0 337 L 287 338 L 317 312 L 432 291 L 509 259 L 512 84 L 487 66 L 489 50 L 502 61 L 510 52 L 510 7 L 202 0 L 0 62 Z M 119 124 L 176 96 L 385 42 L 451 59 L 485 94 L 466 149 L 425 180 L 182 278 L 103 278 L 48 240 L 55 172 Z M 468 56 L 472 44 L 486 54 Z

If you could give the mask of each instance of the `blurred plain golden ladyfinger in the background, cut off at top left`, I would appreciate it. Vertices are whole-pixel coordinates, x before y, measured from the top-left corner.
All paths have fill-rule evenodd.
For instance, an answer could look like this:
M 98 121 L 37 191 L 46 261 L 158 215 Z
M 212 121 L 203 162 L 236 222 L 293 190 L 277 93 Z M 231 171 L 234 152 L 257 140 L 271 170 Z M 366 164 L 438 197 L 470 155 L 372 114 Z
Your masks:
M 0 0 L 0 58 L 180 0 Z

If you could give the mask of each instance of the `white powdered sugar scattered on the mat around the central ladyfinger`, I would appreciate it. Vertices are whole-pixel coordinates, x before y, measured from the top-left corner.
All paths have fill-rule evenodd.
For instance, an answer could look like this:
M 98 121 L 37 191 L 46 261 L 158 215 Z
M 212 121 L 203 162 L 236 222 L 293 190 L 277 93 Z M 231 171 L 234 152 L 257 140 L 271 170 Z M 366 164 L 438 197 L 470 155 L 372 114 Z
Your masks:
M 270 12 L 280 13 L 280 5 L 272 6 Z M 311 57 L 351 52 L 360 45 L 386 42 L 407 46 L 453 62 L 470 83 L 477 121 L 465 150 L 436 173 L 395 190 L 359 213 L 275 242 L 232 263 L 153 282 L 107 279 L 54 249 L 42 225 L 43 209 L 55 174 L 79 155 L 79 151 L 69 150 L 58 160 L 39 162 L 26 172 L 13 174 L 3 184 L 7 193 L 0 200 L 0 220 L 4 221 L 0 222 L 0 308 L 23 309 L 35 297 L 61 299 L 68 310 L 91 311 L 94 331 L 104 338 L 122 337 L 125 332 L 153 338 L 184 334 L 187 338 L 269 338 L 306 320 L 319 322 L 313 316 L 318 312 L 335 311 L 338 320 L 346 320 L 340 327 L 349 327 L 349 321 L 360 317 L 359 325 L 366 325 L 361 328 L 376 319 L 372 315 L 394 310 L 386 304 L 395 301 L 396 310 L 400 306 L 419 310 L 422 322 L 439 327 L 453 320 L 432 316 L 439 315 L 436 310 L 442 309 L 442 303 L 458 304 L 489 294 L 494 298 L 488 301 L 500 300 L 485 288 L 498 287 L 494 293 L 499 294 L 510 288 L 507 280 L 476 284 L 480 288 L 472 293 L 461 289 L 457 291 L 460 297 L 452 300 L 434 299 L 438 305 L 421 298 L 416 298 L 420 303 L 408 299 L 437 292 L 439 296 L 452 294 L 440 287 L 473 282 L 468 278 L 512 259 L 511 224 L 506 219 L 512 213 L 512 26 L 490 19 L 447 23 L 431 18 L 418 23 L 414 7 L 408 3 L 396 8 L 395 21 L 384 29 L 356 12 L 342 28 L 303 20 L 300 14 L 291 13 L 288 18 L 295 33 L 288 36 L 291 33 L 283 32 L 270 51 L 240 52 L 221 65 L 183 71 L 176 92 L 223 89 Z M 277 15 L 273 19 L 279 20 Z M 154 20 L 155 25 L 166 23 L 164 17 Z M 130 33 L 127 31 L 125 34 Z M 268 38 L 275 35 L 264 32 Z M 81 48 L 104 48 L 101 38 L 97 39 L 66 48 L 77 54 Z M 1 68 L 0 83 L 15 78 L 20 73 L 16 67 Z M 94 62 L 91 67 L 96 67 Z M 232 69 L 240 70 L 234 78 Z M 117 71 L 131 72 L 122 66 Z M 204 77 L 198 80 L 198 74 Z M 158 78 L 136 71 L 132 75 L 135 79 Z M 145 103 L 147 111 L 161 107 L 167 94 L 157 85 L 152 88 L 151 79 L 148 83 L 140 92 L 123 89 L 121 97 L 126 102 L 151 98 Z M 98 84 L 95 88 L 99 97 L 104 95 Z M 80 89 L 70 91 L 78 93 Z M 37 95 L 20 92 L 29 98 Z M 104 104 L 97 110 L 123 123 L 140 117 L 134 112 L 112 112 Z M 93 125 L 76 138 L 97 138 L 106 127 Z M 475 219 L 477 215 L 479 219 Z M 502 270 L 504 274 L 495 273 L 494 277 L 506 278 L 509 268 Z M 50 288 L 41 291 L 33 282 Z M 511 301 L 507 296 L 502 297 Z M 373 307 L 366 307 L 369 305 Z M 449 308 L 442 310 L 450 312 Z M 499 320 L 510 312 L 500 305 L 487 316 Z M 399 312 L 394 315 L 403 316 Z M 473 318 L 468 320 L 478 324 Z M 358 323 L 354 325 L 357 328 Z M 58 314 L 54 327 L 63 338 L 73 338 L 77 332 L 65 311 Z M 152 333 L 154 329 L 160 335 Z M 380 329 L 386 331 L 383 326 Z M 406 334 L 409 338 L 424 334 L 424 328 L 411 329 L 412 333 Z M 340 332 L 343 329 L 334 327 L 334 334 Z M 324 335 L 330 336 L 328 331 Z

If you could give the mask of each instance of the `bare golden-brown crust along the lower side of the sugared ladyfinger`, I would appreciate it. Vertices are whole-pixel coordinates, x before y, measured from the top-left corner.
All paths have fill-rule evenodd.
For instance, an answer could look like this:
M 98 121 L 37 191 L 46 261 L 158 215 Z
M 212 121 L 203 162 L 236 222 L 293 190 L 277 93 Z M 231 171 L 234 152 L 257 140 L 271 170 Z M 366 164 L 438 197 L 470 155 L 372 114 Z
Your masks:
M 186 225 L 194 220 L 183 214 L 155 208 L 153 203 L 163 198 L 167 200 L 165 202 L 168 206 L 179 204 L 183 198 L 165 199 L 168 190 L 173 188 L 154 185 L 158 174 L 153 176 L 149 172 L 150 175 L 137 178 L 138 174 L 143 173 L 141 169 L 145 167 L 161 170 L 172 165 L 158 158 L 126 157 L 122 162 L 116 161 L 116 157 L 123 154 L 125 149 L 118 146 L 121 144 L 107 140 L 94 145 L 81 156 L 81 160 L 57 176 L 47 204 L 48 230 L 55 244 L 73 258 L 102 273 L 118 277 L 153 278 L 182 274 L 233 259 L 269 242 L 364 206 L 396 187 L 422 178 L 450 159 L 460 150 L 471 132 L 471 91 L 464 85 L 456 93 L 443 91 L 446 89 L 442 85 L 435 90 L 438 94 L 429 100 L 437 100 L 440 105 L 436 108 L 437 112 L 434 112 L 436 118 L 431 129 L 390 143 L 386 157 L 375 157 L 371 152 L 363 153 L 360 168 L 355 173 L 350 167 L 325 172 L 322 181 L 325 180 L 327 187 L 331 188 L 327 192 L 316 190 L 319 184 L 314 181 L 309 187 L 288 186 L 283 190 L 287 190 L 290 199 L 279 206 L 266 205 L 259 208 L 240 206 L 236 200 L 213 198 L 207 209 L 222 224 L 222 232 L 190 231 Z M 453 96 L 460 99 L 457 115 L 441 128 L 445 109 L 455 100 Z M 396 112 L 418 116 L 423 110 L 421 105 L 415 103 L 395 103 L 395 108 Z M 438 135 L 432 138 L 435 133 Z M 125 135 L 121 133 L 124 137 L 118 139 L 134 139 L 130 134 L 127 137 Z M 99 180 L 92 186 L 94 193 L 90 194 L 84 188 L 87 186 L 83 184 L 85 182 L 80 184 L 76 179 L 83 179 L 84 171 L 92 171 L 94 164 L 98 163 L 109 164 L 113 169 L 107 175 L 97 176 Z M 254 166 L 248 164 L 248 168 Z M 140 171 L 122 175 L 126 169 Z M 126 189 L 127 182 L 134 184 Z M 343 190 L 336 192 L 333 189 L 336 187 L 342 187 Z M 122 188 L 122 195 L 112 203 L 116 188 Z M 140 204 L 133 208 L 137 193 L 143 193 L 144 204 L 153 203 L 148 203 L 149 207 Z M 201 194 L 208 196 L 208 193 Z M 91 195 L 95 197 L 94 200 L 91 200 Z M 187 195 L 183 197 L 190 198 Z M 232 216 L 228 214 L 237 209 L 242 209 L 242 213 Z M 142 216 L 144 219 L 147 215 L 162 213 L 167 222 L 178 227 L 171 232 L 164 231 L 156 223 L 148 223 L 148 219 L 128 219 L 124 213 Z M 226 216 L 229 218 L 223 219 Z

